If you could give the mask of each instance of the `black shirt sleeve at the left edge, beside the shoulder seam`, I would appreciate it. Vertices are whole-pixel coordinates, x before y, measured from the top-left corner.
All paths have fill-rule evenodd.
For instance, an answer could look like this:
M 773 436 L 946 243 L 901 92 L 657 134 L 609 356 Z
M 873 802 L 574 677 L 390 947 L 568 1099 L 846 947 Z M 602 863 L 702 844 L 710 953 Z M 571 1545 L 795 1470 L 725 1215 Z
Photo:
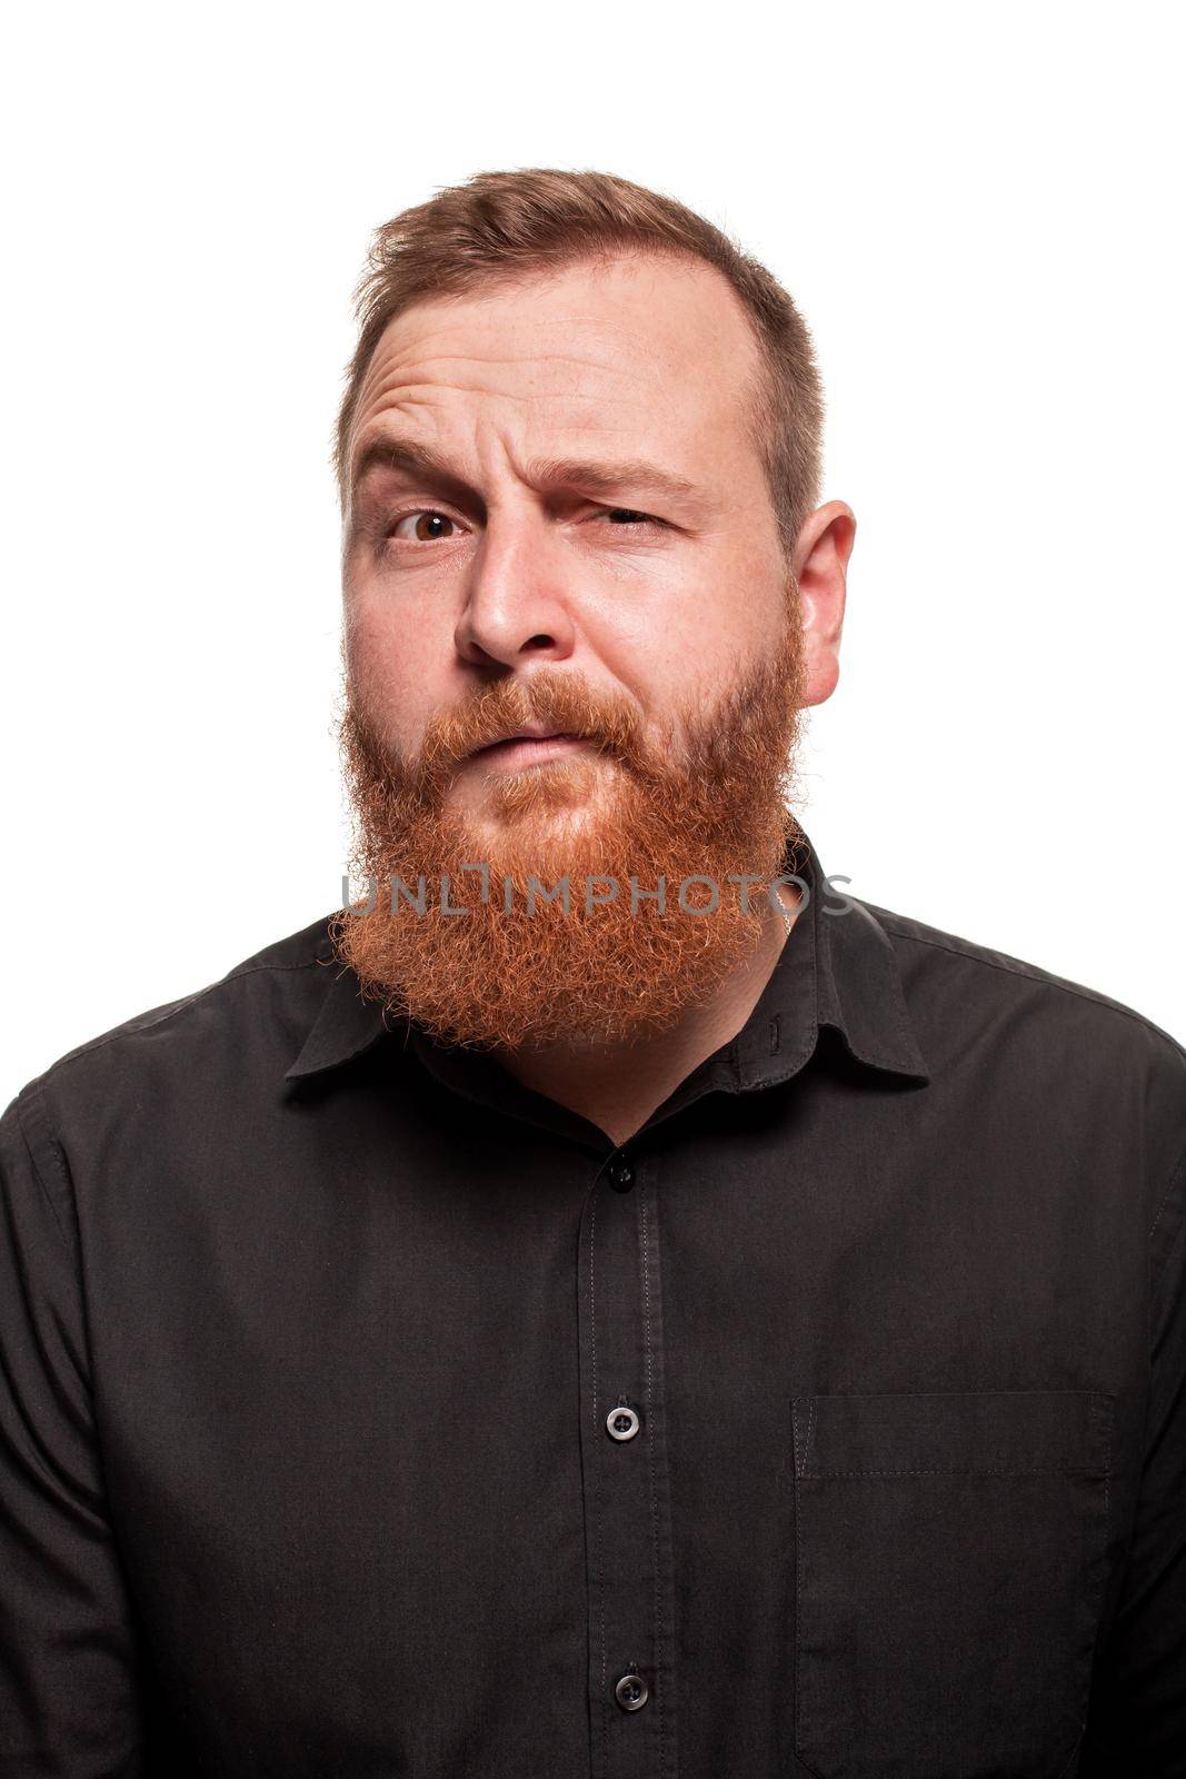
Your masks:
M 0 1772 L 139 1779 L 135 1637 L 94 1437 L 78 1224 L 37 1083 L 0 1119 Z

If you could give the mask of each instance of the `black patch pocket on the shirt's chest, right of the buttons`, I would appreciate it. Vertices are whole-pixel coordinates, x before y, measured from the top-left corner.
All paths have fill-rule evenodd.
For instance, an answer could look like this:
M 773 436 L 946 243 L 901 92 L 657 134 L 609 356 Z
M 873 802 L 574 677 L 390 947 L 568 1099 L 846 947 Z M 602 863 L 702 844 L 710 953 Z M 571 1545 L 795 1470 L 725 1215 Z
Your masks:
M 820 1779 L 1069 1768 L 1111 1411 L 1086 1389 L 795 1398 L 795 1749 Z

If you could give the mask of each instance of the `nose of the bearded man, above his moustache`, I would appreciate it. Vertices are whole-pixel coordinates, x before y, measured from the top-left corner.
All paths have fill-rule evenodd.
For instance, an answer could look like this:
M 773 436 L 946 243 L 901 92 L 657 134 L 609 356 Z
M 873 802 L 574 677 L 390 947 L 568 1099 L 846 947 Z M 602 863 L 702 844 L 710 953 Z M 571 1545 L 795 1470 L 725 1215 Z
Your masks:
M 487 514 L 457 619 L 457 653 L 475 667 L 565 660 L 576 644 L 555 534 L 542 516 Z

